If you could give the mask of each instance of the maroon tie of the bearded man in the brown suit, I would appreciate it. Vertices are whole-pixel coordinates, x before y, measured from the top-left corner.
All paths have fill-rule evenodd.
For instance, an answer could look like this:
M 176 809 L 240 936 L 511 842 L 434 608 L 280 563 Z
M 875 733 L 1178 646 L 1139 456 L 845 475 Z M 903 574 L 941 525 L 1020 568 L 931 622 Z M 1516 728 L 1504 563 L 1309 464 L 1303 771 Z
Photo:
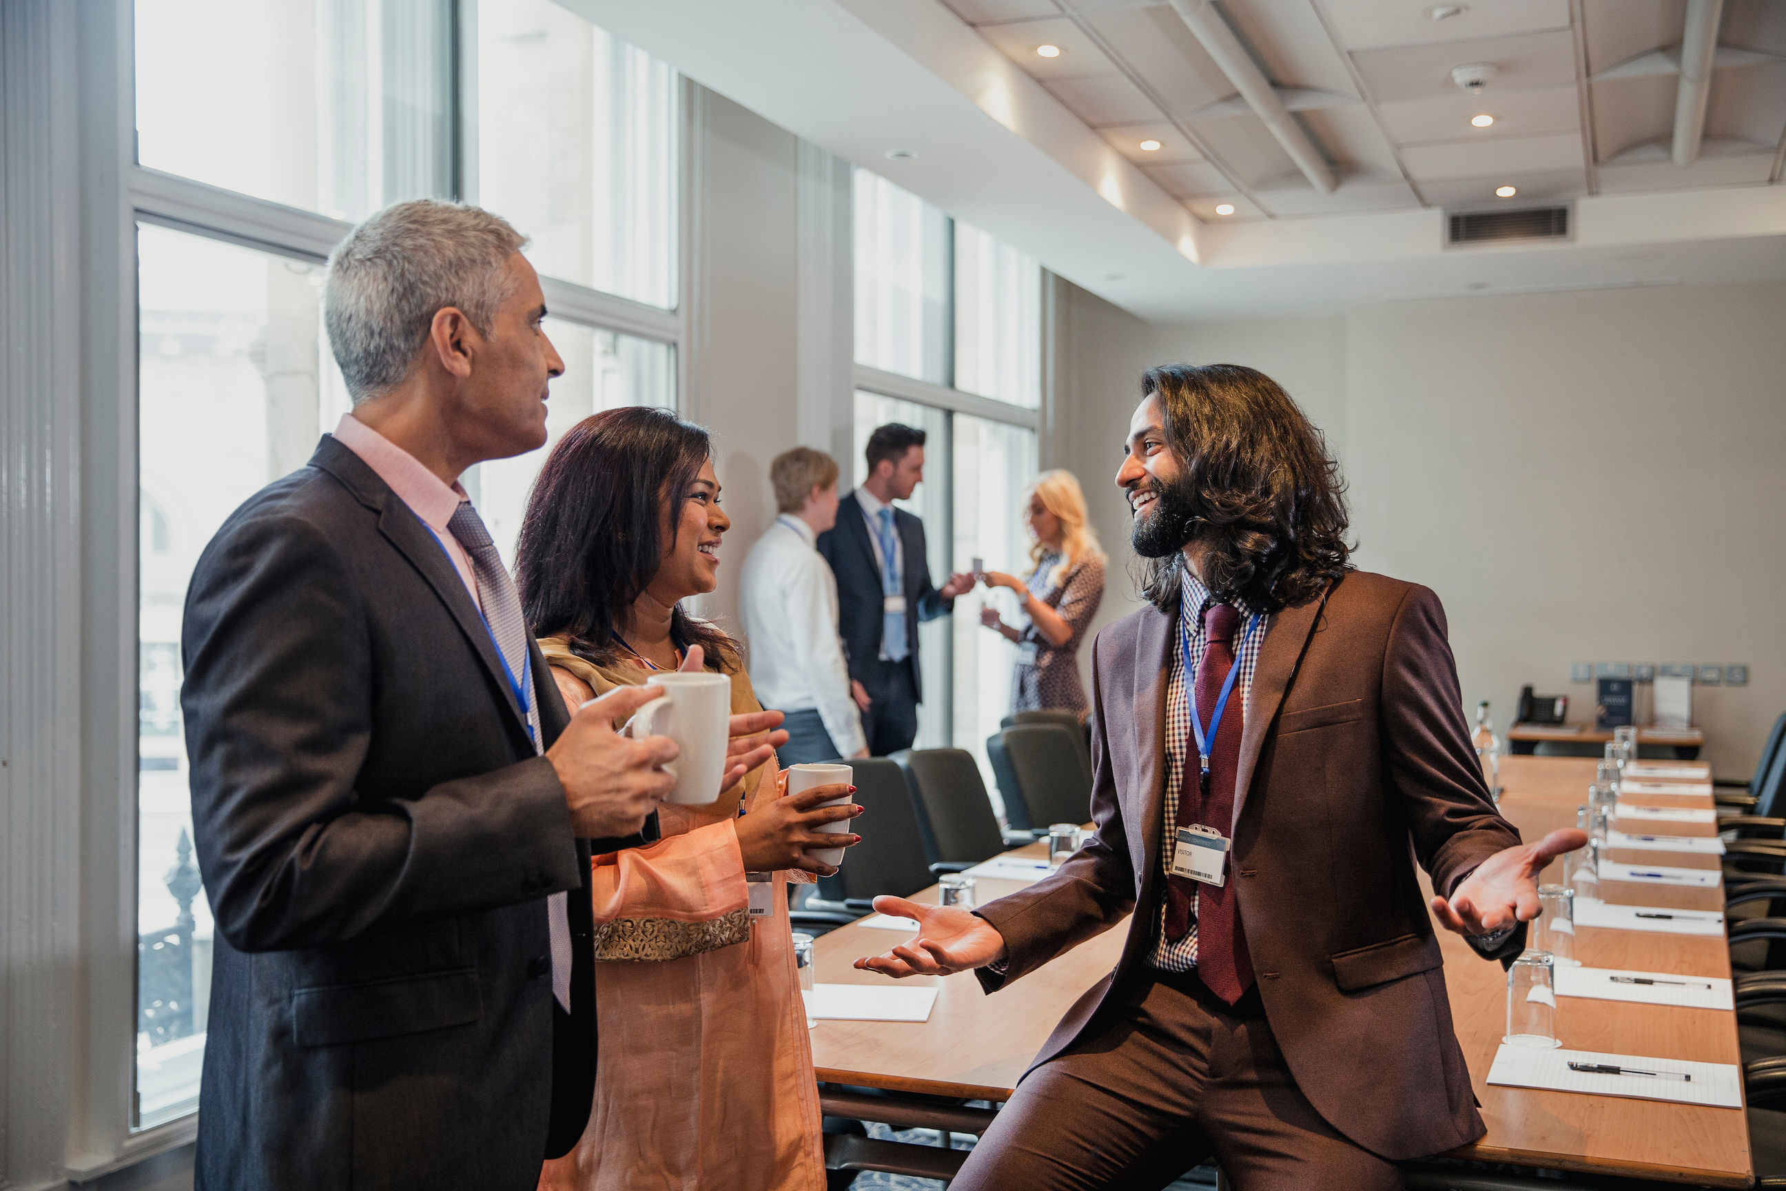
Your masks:
M 1197 718 L 1204 734 L 1222 698 L 1222 684 L 1234 668 L 1234 630 L 1239 612 L 1232 604 L 1214 604 L 1204 612 L 1204 657 L 1197 664 Z M 1239 682 L 1236 682 L 1236 687 Z M 1198 780 L 1197 737 L 1186 743 L 1184 779 L 1179 782 L 1179 825 L 1202 823 L 1223 836 L 1234 823 L 1234 771 L 1239 768 L 1239 737 L 1245 727 L 1245 700 L 1236 689 L 1222 712 L 1216 739 L 1209 741 L 1209 789 Z M 1197 912 L 1197 975 L 1211 993 L 1234 1004 L 1252 987 L 1252 957 L 1247 934 L 1234 905 L 1234 862 L 1229 857 L 1227 882 L 1202 886 L 1189 877 L 1166 880 L 1166 937 L 1173 943 L 1191 927 L 1191 898 L 1202 893 Z

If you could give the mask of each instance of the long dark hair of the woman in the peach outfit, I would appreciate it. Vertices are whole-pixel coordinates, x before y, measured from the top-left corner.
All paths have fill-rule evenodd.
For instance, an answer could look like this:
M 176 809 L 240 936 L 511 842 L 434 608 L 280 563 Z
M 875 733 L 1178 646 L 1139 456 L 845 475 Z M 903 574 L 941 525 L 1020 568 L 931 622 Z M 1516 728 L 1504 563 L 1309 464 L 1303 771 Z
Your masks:
M 527 496 L 514 552 L 534 636 L 568 637 L 597 666 L 629 657 L 618 641 L 627 609 L 675 546 L 682 495 L 711 455 L 707 430 L 666 409 L 604 409 L 564 432 Z M 670 636 L 702 646 L 709 670 L 738 668 L 738 643 L 680 604 Z

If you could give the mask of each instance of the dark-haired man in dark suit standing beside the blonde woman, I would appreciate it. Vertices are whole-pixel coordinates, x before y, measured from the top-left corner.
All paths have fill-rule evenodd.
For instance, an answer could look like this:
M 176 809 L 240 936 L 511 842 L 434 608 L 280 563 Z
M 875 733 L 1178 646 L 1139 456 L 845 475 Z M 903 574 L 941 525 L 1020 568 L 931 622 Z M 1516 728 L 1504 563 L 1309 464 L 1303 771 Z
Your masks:
M 973 577 L 931 586 L 923 521 L 895 509 L 923 480 L 923 430 L 889 421 L 868 436 L 868 479 L 838 505 L 838 523 L 818 552 L 838 577 L 839 632 L 850 654 L 850 686 L 875 757 L 911 748 L 918 736 L 923 673 L 918 625 L 948 616 Z

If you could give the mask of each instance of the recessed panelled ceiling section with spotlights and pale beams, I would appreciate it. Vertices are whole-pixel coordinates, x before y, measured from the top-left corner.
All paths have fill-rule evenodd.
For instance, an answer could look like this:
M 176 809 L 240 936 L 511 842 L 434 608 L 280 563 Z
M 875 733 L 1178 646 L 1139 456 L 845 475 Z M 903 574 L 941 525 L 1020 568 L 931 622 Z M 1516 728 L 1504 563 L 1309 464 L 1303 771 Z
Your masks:
M 1781 0 L 945 4 L 1204 221 L 1754 186 L 1779 180 L 1786 152 Z M 1289 137 L 1329 166 L 1331 191 L 1218 64 L 1198 27 L 1211 20 L 1270 82 Z M 1693 20 L 1715 21 L 1718 50 L 1697 155 L 1675 164 Z M 1481 91 L 1454 80 L 1459 66 L 1491 68 Z

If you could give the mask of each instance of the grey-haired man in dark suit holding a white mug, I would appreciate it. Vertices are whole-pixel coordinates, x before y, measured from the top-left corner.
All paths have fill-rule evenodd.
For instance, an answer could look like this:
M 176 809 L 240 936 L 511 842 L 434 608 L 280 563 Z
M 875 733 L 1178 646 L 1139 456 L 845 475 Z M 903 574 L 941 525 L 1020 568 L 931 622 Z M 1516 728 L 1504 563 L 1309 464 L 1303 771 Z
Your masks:
M 547 437 L 523 243 L 429 200 L 354 229 L 325 293 L 354 411 L 193 573 L 198 1187 L 527 1191 L 588 1121 L 591 846 L 655 839 L 675 745 L 613 729 L 655 686 L 566 711 L 457 482 Z

